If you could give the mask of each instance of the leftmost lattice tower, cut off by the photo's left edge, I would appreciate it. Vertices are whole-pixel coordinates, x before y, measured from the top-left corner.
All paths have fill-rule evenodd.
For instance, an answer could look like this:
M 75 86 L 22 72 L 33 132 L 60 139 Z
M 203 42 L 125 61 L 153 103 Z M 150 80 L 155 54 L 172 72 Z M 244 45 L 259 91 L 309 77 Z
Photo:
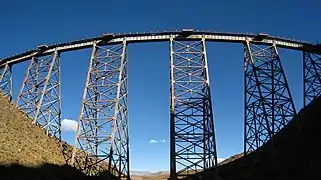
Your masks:
M 12 66 L 8 63 L 0 66 L 0 90 L 7 99 L 12 100 Z

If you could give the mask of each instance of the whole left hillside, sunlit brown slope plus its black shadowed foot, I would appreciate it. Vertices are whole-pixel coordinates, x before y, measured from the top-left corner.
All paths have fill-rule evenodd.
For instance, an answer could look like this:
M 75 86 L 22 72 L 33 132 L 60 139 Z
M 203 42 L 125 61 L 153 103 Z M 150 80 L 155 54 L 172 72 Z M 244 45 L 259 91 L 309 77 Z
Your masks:
M 47 136 L 41 127 L 33 125 L 31 119 L 0 95 L 1 180 L 89 178 L 65 165 L 64 155 L 71 157 L 72 147 L 63 144 L 64 154 L 56 138 Z M 106 176 L 109 175 L 104 173 L 100 178 Z M 89 179 L 93 178 L 99 177 Z

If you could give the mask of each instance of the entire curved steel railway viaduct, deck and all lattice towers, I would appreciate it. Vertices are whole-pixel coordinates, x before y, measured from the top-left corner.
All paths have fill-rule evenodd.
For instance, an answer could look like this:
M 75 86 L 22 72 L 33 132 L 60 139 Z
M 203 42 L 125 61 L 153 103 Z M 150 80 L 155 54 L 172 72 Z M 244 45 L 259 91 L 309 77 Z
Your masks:
M 201 32 L 103 34 L 36 49 L 0 61 L 0 87 L 12 100 L 13 65 L 30 60 L 15 101 L 33 123 L 61 140 L 60 54 L 92 48 L 71 164 L 89 175 L 103 171 L 130 179 L 127 111 L 127 44 L 169 42 L 170 178 L 217 163 L 206 42 L 244 46 L 244 154 L 255 151 L 296 114 L 278 48 L 302 51 L 304 105 L 321 92 L 321 46 L 267 34 Z M 80 165 L 80 160 L 85 163 Z M 106 169 L 105 169 L 106 170 Z

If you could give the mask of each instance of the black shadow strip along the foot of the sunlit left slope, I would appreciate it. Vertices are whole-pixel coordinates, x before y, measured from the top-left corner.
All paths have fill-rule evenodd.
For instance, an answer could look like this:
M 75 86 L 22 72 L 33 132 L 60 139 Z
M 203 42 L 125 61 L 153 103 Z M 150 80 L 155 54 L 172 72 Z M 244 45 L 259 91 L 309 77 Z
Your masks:
M 55 165 L 45 163 L 35 167 L 27 167 L 20 164 L 0 164 L 1 180 L 116 180 L 117 178 L 108 172 L 99 176 L 86 176 L 78 169 L 68 165 Z

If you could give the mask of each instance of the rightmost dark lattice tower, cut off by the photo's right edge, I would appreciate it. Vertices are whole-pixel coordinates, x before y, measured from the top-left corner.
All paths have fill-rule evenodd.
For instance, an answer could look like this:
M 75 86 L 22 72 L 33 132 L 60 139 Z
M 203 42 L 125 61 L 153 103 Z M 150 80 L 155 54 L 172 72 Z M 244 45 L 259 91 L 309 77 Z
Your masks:
M 321 93 L 321 56 L 303 52 L 304 106 Z

